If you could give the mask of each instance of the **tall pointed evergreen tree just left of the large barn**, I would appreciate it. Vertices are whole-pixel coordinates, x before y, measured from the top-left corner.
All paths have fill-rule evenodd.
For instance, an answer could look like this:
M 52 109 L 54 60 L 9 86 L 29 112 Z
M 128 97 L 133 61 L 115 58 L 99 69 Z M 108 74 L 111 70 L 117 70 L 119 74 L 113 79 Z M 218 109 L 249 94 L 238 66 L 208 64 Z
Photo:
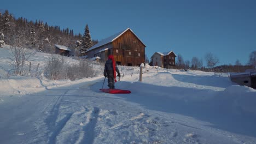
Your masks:
M 83 46 L 80 49 L 80 53 L 82 56 L 86 55 L 86 51 L 93 45 L 91 40 L 91 34 L 89 31 L 89 27 L 86 24 L 85 31 L 84 31 L 84 37 L 83 37 Z

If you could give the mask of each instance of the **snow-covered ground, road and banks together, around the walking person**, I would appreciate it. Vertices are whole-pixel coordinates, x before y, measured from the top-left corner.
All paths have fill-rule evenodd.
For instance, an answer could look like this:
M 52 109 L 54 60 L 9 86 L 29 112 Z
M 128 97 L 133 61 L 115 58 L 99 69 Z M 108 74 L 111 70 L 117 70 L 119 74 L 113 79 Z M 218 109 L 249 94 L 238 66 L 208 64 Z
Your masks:
M 228 74 L 121 67 L 108 94 L 98 76 L 50 81 L 43 75 L 10 76 L 8 47 L 0 48 L 1 143 L 255 143 L 256 90 Z M 50 55 L 37 52 L 39 70 Z M 72 58 L 66 62 L 76 63 Z M 107 80 L 104 83 L 107 88 Z

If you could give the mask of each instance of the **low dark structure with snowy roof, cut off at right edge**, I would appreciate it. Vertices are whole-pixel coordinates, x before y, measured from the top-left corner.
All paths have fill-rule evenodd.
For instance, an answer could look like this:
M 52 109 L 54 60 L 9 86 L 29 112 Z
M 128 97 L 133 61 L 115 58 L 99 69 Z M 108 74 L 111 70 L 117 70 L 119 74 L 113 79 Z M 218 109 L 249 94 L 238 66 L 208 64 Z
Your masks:
M 256 88 L 256 70 L 230 74 L 230 80 L 241 86 Z

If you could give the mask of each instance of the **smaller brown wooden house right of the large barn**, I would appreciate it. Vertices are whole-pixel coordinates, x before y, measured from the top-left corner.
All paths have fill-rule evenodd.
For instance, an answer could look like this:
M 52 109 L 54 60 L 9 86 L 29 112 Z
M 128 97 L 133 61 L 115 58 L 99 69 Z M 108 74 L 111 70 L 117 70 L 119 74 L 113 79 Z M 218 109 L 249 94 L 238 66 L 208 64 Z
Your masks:
M 175 53 L 173 51 L 170 52 L 155 52 L 151 57 L 152 65 L 157 65 L 162 68 L 173 68 L 175 67 Z

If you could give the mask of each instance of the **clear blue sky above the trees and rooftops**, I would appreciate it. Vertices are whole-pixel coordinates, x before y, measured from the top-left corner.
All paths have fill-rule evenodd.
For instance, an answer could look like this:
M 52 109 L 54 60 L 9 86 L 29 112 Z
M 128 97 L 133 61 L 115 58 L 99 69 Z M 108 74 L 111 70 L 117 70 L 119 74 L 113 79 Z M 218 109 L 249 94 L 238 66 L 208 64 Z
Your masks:
M 17 17 L 42 20 L 49 25 L 102 40 L 130 27 L 146 44 L 146 55 L 174 51 L 184 61 L 203 59 L 212 52 L 222 64 L 248 62 L 256 50 L 256 1 L 249 0 L 108 0 L 108 1 L 2 1 Z

